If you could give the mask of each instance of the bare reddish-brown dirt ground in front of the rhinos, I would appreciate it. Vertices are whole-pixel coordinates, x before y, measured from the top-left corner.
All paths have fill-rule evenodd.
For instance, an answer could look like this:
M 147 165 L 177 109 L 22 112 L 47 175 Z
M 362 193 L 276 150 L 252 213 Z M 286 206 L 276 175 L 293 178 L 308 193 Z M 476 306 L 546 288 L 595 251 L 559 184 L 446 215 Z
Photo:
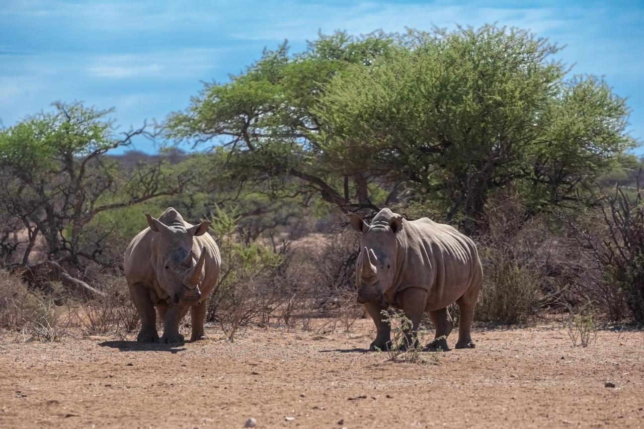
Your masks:
M 644 427 L 644 331 L 571 347 L 554 325 L 476 329 L 477 348 L 393 363 L 350 334 L 217 327 L 179 347 L 0 340 L 0 427 Z M 450 336 L 450 345 L 456 332 Z M 606 382 L 614 388 L 605 387 Z

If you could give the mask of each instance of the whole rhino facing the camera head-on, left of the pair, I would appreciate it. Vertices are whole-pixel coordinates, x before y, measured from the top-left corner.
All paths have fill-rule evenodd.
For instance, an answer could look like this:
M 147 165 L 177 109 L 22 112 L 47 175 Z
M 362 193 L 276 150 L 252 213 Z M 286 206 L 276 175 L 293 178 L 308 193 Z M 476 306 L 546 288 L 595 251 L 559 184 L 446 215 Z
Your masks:
M 207 234 L 210 222 L 191 225 L 172 207 L 158 219 L 146 214 L 147 227 L 125 252 L 125 277 L 141 318 L 137 341 L 181 343 L 179 322 L 191 309 L 191 341 L 205 338 L 208 294 L 219 276 L 222 258 Z M 164 332 L 156 332 L 156 309 Z

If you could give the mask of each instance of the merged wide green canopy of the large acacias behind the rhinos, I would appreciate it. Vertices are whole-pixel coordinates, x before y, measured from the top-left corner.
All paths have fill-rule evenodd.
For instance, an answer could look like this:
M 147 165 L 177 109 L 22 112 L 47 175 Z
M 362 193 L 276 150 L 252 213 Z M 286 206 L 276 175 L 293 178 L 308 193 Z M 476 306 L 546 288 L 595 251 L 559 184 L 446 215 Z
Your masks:
M 568 77 L 558 52 L 496 26 L 321 35 L 207 84 L 167 135 L 213 140 L 216 175 L 231 184 L 316 193 L 345 213 L 404 189 L 473 233 L 495 190 L 518 188 L 531 213 L 565 204 L 635 144 L 625 99 Z

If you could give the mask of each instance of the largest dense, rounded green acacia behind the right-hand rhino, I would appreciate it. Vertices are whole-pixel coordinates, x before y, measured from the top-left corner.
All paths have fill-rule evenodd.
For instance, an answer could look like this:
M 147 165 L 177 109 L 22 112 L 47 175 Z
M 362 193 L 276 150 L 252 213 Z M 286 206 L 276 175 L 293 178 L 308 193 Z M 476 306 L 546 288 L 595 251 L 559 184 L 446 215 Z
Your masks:
M 489 195 L 510 184 L 527 217 L 565 204 L 634 140 L 625 99 L 601 79 L 567 79 L 558 51 L 496 26 L 410 31 L 325 85 L 318 146 L 346 174 L 410 184 L 468 233 L 486 230 Z

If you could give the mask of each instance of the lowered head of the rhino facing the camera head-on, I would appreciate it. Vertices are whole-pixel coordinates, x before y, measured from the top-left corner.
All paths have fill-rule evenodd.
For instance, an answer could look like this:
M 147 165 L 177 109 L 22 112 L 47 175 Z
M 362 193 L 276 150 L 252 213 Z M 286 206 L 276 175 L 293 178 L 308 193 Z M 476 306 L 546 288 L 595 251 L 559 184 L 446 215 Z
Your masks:
M 166 225 L 149 214 L 146 218 L 151 231 L 156 233 L 151 260 L 159 286 L 175 304 L 196 304 L 201 298 L 199 282 L 204 275 L 206 252 L 205 247 L 195 251 L 193 237 L 205 234 L 210 222 L 186 228 Z

